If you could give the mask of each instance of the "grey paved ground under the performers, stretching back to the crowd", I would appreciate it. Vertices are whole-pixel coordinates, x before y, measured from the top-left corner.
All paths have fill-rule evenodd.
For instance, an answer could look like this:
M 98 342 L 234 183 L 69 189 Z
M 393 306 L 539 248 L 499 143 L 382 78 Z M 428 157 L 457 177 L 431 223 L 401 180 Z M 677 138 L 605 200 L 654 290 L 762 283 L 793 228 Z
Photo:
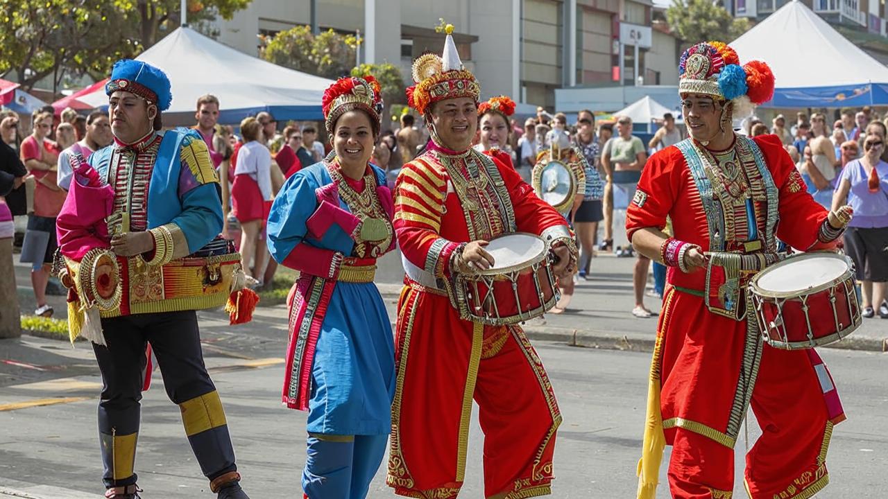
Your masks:
M 620 242 L 617 242 L 620 244 Z M 531 321 L 527 330 L 549 368 L 564 414 L 556 450 L 554 497 L 634 496 L 655 318 L 639 320 L 632 305 L 634 258 L 600 256 L 594 279 L 581 281 L 568 313 Z M 28 268 L 17 265 L 23 310 L 33 300 Z M 393 317 L 402 273 L 397 255 L 380 263 L 378 281 Z M 64 298 L 56 300 L 64 317 Z M 657 310 L 657 300 L 646 297 Z M 255 498 L 297 497 L 305 455 L 305 415 L 281 408 L 281 359 L 286 338 L 282 305 L 260 307 L 254 321 L 232 328 L 218 311 L 200 313 L 206 362 L 222 393 L 244 484 Z M 875 349 L 888 321 L 865 320 L 843 342 Z M 567 344 L 623 350 L 578 348 Z M 821 499 L 888 497 L 888 359 L 879 352 L 821 349 L 839 386 L 849 421 L 836 427 L 829 453 L 833 485 Z M 99 499 L 101 474 L 95 405 L 100 378 L 91 349 L 36 337 L 0 340 L 0 499 Z M 792 403 L 788 400 L 787 403 Z M 182 431 L 178 409 L 160 376 L 143 401 L 139 484 L 146 499 L 210 497 Z M 750 440 L 757 437 L 749 425 Z M 481 497 L 482 435 L 473 423 L 464 497 Z M 745 441 L 738 449 L 746 448 Z M 668 458 L 668 455 L 667 455 Z M 741 456 L 736 466 L 742 469 Z M 665 470 L 665 467 L 663 468 Z M 384 472 L 371 498 L 392 497 Z M 665 475 L 662 477 L 665 480 Z M 741 484 L 741 481 L 737 481 Z M 737 489 L 741 494 L 741 489 Z M 660 497 L 667 497 L 665 487 Z

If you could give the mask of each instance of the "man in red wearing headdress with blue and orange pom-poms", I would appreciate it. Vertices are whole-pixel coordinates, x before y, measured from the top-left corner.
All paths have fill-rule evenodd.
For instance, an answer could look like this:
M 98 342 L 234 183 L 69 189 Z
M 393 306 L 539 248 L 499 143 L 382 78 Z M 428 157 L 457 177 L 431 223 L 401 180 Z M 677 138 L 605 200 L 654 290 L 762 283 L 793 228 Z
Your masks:
M 632 245 L 669 267 L 638 498 L 654 498 L 666 444 L 673 497 L 730 498 L 749 405 L 762 436 L 746 456 L 747 493 L 809 498 L 829 481 L 826 453 L 842 406 L 813 349 L 763 345 L 757 321 L 747 321 L 745 288 L 783 257 L 777 238 L 800 250 L 832 248 L 850 212 L 828 214 L 813 201 L 781 139 L 733 132 L 739 107 L 773 95 L 764 63 L 741 67 L 733 49 L 710 42 L 688 49 L 679 73 L 691 139 L 648 160 L 626 214 Z M 674 237 L 662 233 L 667 217 Z

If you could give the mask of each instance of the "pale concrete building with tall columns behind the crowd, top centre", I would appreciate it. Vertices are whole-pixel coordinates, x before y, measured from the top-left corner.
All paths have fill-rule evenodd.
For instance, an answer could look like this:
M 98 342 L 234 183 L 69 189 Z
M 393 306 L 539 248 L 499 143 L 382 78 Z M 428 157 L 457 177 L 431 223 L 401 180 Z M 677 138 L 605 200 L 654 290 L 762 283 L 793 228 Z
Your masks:
M 862 0 L 866 1 L 866 0 Z M 232 20 L 218 20 L 218 40 L 255 55 L 260 35 L 310 24 L 360 31 L 363 62 L 400 65 L 439 52 L 439 18 L 456 27 L 463 61 L 483 97 L 507 94 L 550 108 L 570 86 L 674 84 L 674 37 L 652 28 L 651 0 L 256 0 Z

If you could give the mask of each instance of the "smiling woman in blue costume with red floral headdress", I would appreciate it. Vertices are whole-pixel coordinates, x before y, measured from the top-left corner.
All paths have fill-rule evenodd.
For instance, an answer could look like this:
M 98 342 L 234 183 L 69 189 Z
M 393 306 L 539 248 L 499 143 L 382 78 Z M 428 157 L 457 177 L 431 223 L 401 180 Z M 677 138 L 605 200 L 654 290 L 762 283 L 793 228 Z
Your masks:
M 310 499 L 367 496 L 385 455 L 394 345 L 373 279 L 394 248 L 392 194 L 369 163 L 382 99 L 372 76 L 324 92 L 334 154 L 299 170 L 274 200 L 268 247 L 300 272 L 289 293 L 283 402 L 308 411 L 302 488 Z

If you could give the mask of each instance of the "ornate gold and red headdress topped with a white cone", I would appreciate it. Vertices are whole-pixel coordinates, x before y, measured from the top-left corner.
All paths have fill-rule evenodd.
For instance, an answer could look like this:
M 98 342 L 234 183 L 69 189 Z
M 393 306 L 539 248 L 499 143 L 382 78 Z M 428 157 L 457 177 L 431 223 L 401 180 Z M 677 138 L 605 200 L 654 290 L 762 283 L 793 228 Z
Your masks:
M 443 21 L 441 22 L 443 25 Z M 427 53 L 413 62 L 415 85 L 407 89 L 407 102 L 420 115 L 435 102 L 444 99 L 469 97 L 478 101 L 481 86 L 475 75 L 463 67 L 453 41 L 453 25 L 439 26 L 436 31 L 447 34 L 442 57 Z

